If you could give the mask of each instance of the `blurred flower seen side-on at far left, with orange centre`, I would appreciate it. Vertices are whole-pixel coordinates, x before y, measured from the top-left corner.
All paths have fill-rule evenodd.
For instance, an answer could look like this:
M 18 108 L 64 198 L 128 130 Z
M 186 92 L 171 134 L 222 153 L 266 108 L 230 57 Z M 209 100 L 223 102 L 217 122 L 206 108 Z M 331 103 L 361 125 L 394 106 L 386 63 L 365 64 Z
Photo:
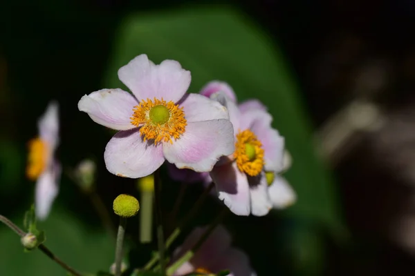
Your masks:
M 46 219 L 53 201 L 57 197 L 61 175 L 60 164 L 55 159 L 59 143 L 58 104 L 49 103 L 46 112 L 37 122 L 39 137 L 29 141 L 26 175 L 36 180 L 35 212 L 38 219 Z

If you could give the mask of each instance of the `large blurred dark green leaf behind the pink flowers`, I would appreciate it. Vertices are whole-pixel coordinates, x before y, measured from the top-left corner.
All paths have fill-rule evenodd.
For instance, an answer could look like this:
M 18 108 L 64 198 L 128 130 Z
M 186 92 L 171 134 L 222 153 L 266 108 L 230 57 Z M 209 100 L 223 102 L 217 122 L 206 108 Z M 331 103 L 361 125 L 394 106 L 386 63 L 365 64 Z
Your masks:
M 219 79 L 230 83 L 240 100 L 266 103 L 293 155 L 287 177 L 298 201 L 291 212 L 338 224 L 331 177 L 315 156 L 297 86 L 282 53 L 259 26 L 230 8 L 131 14 L 116 34 L 104 87 L 125 88 L 117 70 L 142 53 L 155 63 L 180 61 L 192 72 L 191 92 Z

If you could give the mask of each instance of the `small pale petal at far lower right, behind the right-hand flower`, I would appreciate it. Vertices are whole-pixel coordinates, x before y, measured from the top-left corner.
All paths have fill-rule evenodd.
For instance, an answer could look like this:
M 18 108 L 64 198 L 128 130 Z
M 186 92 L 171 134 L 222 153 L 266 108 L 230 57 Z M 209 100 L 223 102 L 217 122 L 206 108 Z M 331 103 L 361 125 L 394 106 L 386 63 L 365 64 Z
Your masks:
M 273 184 L 268 187 L 268 194 L 273 207 L 277 209 L 291 206 L 297 200 L 297 195 L 291 185 L 284 177 L 277 174 L 275 174 Z

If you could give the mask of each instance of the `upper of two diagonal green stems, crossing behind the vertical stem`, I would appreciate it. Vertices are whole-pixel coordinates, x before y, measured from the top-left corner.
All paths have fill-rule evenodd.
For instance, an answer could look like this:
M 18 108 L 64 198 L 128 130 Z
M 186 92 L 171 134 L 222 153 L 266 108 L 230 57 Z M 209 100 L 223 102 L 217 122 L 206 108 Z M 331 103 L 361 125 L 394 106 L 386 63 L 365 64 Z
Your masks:
M 214 187 L 214 183 L 211 182 L 210 185 L 208 186 L 208 188 L 203 190 L 202 195 L 196 201 L 196 203 L 194 204 L 192 209 L 190 209 L 189 213 L 187 213 L 187 215 L 178 223 L 178 226 L 176 227 L 176 229 L 174 229 L 173 233 L 170 234 L 169 237 L 167 237 L 167 241 L 166 241 L 166 244 L 165 244 L 166 249 L 170 248 L 170 246 L 173 244 L 174 240 L 178 237 L 178 235 L 180 235 L 181 230 L 186 226 L 187 222 L 190 221 L 194 217 L 194 215 L 196 215 L 197 210 L 199 210 L 199 208 L 201 208 L 201 206 L 203 205 L 205 200 L 208 198 L 210 190 L 212 190 L 213 187 Z M 154 255 L 149 260 L 149 262 L 147 262 L 144 269 L 149 270 L 152 266 L 154 266 L 154 264 L 156 264 L 158 259 L 160 259 L 160 255 L 158 255 L 158 254 Z

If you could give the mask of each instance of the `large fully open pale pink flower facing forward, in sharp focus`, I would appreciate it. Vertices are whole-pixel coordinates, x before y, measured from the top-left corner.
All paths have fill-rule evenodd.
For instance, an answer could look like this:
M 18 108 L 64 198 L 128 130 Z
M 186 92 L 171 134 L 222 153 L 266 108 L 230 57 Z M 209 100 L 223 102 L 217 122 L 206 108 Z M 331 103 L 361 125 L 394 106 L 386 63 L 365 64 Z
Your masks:
M 120 68 L 118 77 L 135 97 L 121 89 L 103 89 L 78 103 L 93 121 L 121 130 L 105 148 L 109 172 L 145 177 L 165 159 L 178 168 L 208 172 L 219 157 L 233 152 L 228 112 L 206 97 L 187 94 L 190 72 L 177 61 L 155 65 L 140 55 Z

